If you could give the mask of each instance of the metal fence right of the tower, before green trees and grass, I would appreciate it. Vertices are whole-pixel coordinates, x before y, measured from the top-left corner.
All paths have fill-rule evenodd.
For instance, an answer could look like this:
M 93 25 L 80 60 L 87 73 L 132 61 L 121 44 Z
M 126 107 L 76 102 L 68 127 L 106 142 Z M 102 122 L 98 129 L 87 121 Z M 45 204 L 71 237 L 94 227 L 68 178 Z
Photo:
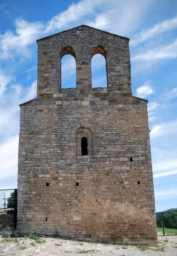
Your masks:
M 156 212 L 156 218 L 159 235 L 177 235 L 177 209 Z

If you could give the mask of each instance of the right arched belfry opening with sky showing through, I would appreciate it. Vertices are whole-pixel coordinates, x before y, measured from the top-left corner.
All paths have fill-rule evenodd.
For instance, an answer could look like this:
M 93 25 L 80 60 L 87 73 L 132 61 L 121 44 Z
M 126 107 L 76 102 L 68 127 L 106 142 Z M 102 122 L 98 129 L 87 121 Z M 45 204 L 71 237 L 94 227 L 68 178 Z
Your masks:
M 106 52 L 101 46 L 91 50 L 92 87 L 107 87 Z

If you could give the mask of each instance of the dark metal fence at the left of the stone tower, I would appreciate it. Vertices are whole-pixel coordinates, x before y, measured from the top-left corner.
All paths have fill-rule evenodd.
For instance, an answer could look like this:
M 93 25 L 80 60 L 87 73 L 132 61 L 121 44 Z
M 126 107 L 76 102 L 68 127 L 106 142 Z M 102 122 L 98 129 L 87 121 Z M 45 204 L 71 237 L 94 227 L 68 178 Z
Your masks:
M 17 189 L 0 190 L 0 229 L 17 224 Z

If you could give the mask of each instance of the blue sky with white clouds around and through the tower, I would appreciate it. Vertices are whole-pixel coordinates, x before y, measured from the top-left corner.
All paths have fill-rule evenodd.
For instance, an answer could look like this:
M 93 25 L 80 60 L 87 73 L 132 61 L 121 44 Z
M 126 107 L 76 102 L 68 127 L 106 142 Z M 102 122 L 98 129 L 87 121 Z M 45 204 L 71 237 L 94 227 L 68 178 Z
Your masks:
M 36 40 L 81 24 L 130 38 L 133 95 L 149 100 L 156 211 L 177 207 L 176 0 L 0 1 L 0 189 L 17 187 L 18 105 L 36 96 Z M 62 59 L 63 87 L 74 65 Z M 106 85 L 102 56 L 92 76 Z

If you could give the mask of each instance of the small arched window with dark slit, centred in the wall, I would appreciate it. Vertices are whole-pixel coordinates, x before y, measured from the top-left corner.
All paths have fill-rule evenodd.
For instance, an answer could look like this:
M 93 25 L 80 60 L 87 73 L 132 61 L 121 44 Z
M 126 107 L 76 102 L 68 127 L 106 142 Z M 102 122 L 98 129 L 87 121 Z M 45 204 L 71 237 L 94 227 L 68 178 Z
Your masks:
M 77 156 L 91 156 L 93 154 L 92 131 L 90 128 L 80 127 L 76 131 Z

